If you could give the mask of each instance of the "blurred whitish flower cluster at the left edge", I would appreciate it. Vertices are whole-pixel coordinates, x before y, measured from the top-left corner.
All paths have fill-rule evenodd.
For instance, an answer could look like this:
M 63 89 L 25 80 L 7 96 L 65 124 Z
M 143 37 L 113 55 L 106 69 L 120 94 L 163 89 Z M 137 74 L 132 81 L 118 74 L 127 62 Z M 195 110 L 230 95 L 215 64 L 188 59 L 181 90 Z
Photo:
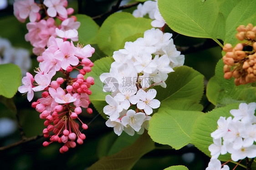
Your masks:
M 31 58 L 28 50 L 12 47 L 9 40 L 0 37 L 0 64 L 13 63 L 20 67 L 22 75 L 31 68 Z

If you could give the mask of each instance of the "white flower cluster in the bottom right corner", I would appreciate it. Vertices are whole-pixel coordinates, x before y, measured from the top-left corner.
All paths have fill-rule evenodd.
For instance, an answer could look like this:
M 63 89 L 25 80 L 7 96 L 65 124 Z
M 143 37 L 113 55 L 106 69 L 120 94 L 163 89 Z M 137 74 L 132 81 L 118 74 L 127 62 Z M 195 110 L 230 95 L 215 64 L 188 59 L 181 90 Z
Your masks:
M 232 119 L 220 117 L 218 129 L 211 133 L 213 144 L 209 146 L 212 159 L 215 161 L 219 155 L 227 152 L 231 154 L 234 161 L 242 160 L 246 157 L 256 157 L 256 116 L 254 115 L 256 103 L 241 103 L 239 109 L 230 110 Z M 210 163 L 209 163 L 210 164 Z M 212 170 L 207 169 L 206 170 Z M 225 170 L 229 170 L 225 169 Z

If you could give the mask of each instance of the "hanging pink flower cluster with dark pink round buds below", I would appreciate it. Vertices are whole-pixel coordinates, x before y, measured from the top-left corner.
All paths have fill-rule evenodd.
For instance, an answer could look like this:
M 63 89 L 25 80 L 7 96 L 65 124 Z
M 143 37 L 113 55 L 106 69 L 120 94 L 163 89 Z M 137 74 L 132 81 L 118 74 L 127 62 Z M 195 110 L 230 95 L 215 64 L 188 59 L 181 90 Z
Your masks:
M 31 101 L 34 92 L 43 91 L 42 98 L 32 103 L 32 107 L 40 112 L 40 118 L 46 119 L 44 125 L 47 126 L 43 130 L 44 137 L 50 137 L 50 142 L 44 142 L 44 146 L 58 141 L 64 145 L 60 152 L 64 153 L 68 148 L 74 148 L 77 141 L 82 144 L 85 135 L 79 130 L 79 124 L 74 120 L 77 119 L 82 123 L 82 128 L 87 129 L 78 117 L 82 112 L 82 108 L 87 108 L 87 113 L 91 114 L 92 109 L 88 108 L 90 104 L 89 96 L 92 91 L 89 90 L 94 85 L 94 79 L 84 75 L 90 72 L 93 66 L 91 57 L 94 48 L 91 45 L 77 44 L 66 41 L 77 35 L 73 30 L 62 31 L 56 28 L 56 34 L 63 34 L 63 39 L 51 36 L 48 40 L 48 48 L 42 53 L 39 67 L 36 69 L 36 75 L 33 77 L 30 73 L 26 73 L 23 77 L 23 85 L 19 87 L 20 93 L 28 92 L 27 99 Z M 80 74 L 77 78 L 71 78 L 72 70 L 79 70 Z M 52 80 L 57 71 L 61 71 L 64 77 L 58 77 Z

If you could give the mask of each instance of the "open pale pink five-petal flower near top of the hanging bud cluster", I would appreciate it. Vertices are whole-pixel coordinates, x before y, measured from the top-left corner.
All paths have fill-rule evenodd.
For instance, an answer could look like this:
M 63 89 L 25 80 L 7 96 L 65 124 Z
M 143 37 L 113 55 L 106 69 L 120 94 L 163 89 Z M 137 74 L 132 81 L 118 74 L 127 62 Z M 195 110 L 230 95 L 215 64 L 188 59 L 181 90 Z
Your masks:
M 65 41 L 59 46 L 60 50 L 54 53 L 56 59 L 61 61 L 61 68 L 66 70 L 67 66 L 78 65 L 79 60 L 74 55 L 70 42 Z

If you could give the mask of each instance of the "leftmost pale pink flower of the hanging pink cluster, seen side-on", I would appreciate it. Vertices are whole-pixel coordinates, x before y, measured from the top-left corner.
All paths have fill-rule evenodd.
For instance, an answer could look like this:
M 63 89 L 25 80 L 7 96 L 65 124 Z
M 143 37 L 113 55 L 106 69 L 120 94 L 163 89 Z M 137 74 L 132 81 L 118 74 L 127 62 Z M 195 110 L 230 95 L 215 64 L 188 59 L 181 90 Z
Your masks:
M 34 97 L 34 91 L 32 90 L 33 82 L 34 82 L 33 75 L 31 75 L 30 73 L 26 73 L 26 77 L 22 78 L 23 85 L 18 88 L 20 93 L 28 92 L 27 99 L 29 101 L 31 101 Z

